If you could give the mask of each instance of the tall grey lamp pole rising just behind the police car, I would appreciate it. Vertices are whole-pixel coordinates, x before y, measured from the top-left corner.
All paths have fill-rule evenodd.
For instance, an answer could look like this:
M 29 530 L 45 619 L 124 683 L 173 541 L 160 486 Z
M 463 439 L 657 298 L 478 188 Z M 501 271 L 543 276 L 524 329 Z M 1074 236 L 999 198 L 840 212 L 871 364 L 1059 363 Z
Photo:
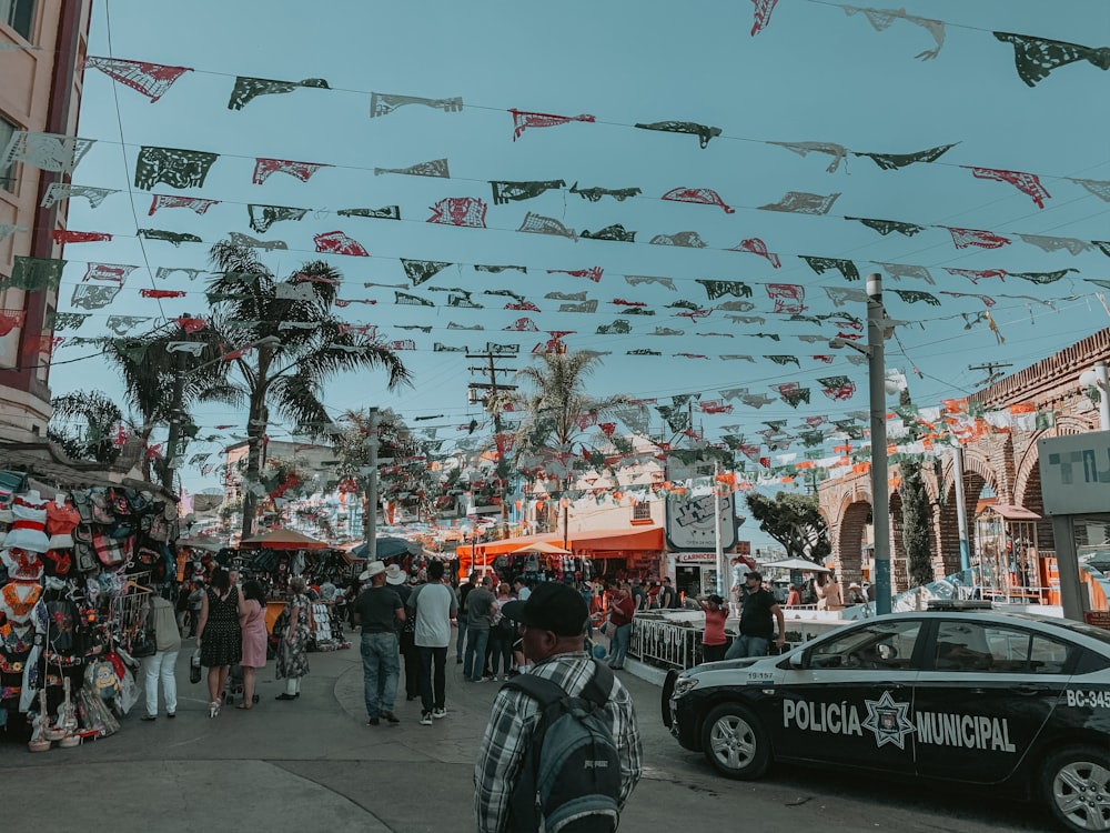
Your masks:
M 867 275 L 867 347 L 836 338 L 834 350 L 850 347 L 867 357 L 871 423 L 871 523 L 875 539 L 875 612 L 890 612 L 890 502 L 887 498 L 887 399 L 882 339 L 888 327 L 882 309 L 882 275 Z

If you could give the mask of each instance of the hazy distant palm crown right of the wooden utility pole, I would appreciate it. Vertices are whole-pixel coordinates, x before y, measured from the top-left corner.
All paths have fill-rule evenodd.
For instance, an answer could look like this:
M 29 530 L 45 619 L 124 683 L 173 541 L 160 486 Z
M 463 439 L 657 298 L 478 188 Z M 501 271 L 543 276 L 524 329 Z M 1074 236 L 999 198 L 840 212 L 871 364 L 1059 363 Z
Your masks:
M 504 393 L 492 403 L 493 408 L 505 410 L 511 405 L 525 412 L 514 443 L 517 458 L 539 454 L 557 460 L 566 466 L 561 472 L 566 485 L 571 480 L 572 448 L 585 434 L 583 418 L 604 419 L 632 401 L 623 393 L 603 398 L 586 393 L 586 380 L 598 364 L 601 359 L 594 353 L 538 353 L 533 365 L 516 373 L 516 379 L 532 391 Z

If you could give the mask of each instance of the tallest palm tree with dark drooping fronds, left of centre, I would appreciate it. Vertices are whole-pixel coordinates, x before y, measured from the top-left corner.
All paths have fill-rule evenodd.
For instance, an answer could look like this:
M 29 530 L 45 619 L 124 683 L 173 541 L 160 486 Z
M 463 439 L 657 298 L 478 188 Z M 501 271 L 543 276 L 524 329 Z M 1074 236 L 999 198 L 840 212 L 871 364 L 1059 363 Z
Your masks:
M 248 538 L 254 531 L 262 443 L 271 404 L 297 430 L 319 436 L 332 425 L 320 400 L 323 384 L 331 377 L 362 368 L 383 368 L 391 390 L 411 381 L 408 370 L 393 351 L 332 313 L 342 275 L 330 264 L 305 263 L 278 281 L 253 249 L 226 241 L 212 247 L 211 260 L 216 268 L 209 290 L 213 332 L 235 333 L 229 343 L 256 345 L 255 350 L 226 355 L 229 383 L 248 403 L 242 532 Z

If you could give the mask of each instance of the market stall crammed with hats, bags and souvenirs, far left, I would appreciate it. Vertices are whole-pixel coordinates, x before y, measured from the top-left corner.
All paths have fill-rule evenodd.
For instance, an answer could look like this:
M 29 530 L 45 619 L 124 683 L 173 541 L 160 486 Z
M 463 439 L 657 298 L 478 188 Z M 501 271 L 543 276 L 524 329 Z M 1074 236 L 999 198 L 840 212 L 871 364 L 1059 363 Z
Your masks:
M 172 591 L 176 504 L 123 486 L 0 500 L 0 726 L 28 746 L 112 734 L 138 699 L 155 589 Z

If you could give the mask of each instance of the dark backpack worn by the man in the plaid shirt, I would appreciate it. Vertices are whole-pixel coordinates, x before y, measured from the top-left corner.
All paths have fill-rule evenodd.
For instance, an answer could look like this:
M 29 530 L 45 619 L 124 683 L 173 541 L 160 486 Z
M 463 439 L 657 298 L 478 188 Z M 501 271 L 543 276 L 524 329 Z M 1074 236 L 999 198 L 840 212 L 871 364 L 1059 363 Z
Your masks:
M 551 680 L 521 674 L 503 688 L 539 703 L 539 722 L 509 799 L 507 830 L 609 833 L 620 820 L 620 757 L 604 713 L 613 672 L 594 661 L 577 696 Z

